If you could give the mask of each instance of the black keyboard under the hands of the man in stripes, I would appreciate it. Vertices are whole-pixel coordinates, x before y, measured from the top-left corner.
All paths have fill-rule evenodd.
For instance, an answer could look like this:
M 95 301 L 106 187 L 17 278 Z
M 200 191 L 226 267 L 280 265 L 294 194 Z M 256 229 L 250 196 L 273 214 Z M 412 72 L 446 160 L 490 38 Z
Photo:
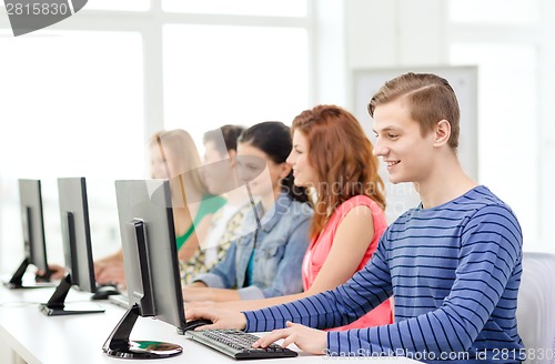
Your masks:
M 252 347 L 260 337 L 240 330 L 204 330 L 188 331 L 189 338 L 210 346 L 236 360 L 294 357 L 296 352 L 283 348 L 278 344 L 268 347 Z

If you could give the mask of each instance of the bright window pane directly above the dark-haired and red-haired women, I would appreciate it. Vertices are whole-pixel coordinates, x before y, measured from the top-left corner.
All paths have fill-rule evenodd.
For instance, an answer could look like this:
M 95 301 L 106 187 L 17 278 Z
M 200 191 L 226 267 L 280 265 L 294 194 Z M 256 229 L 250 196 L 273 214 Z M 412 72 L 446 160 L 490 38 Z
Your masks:
M 304 29 L 164 27 L 165 128 L 196 141 L 225 123 L 290 124 L 307 108 Z

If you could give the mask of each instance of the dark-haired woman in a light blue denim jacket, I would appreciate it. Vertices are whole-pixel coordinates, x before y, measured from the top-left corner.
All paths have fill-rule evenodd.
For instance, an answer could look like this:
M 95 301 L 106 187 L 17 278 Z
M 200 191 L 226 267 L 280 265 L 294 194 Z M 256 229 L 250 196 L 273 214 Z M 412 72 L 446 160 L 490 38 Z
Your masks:
M 290 129 L 281 122 L 262 122 L 241 133 L 238 173 L 260 200 L 258 215 L 251 215 L 260 228 L 233 241 L 211 272 L 195 276 L 183 289 L 184 301 L 255 300 L 302 291 L 312 210 L 303 189 L 292 184 L 290 151 Z

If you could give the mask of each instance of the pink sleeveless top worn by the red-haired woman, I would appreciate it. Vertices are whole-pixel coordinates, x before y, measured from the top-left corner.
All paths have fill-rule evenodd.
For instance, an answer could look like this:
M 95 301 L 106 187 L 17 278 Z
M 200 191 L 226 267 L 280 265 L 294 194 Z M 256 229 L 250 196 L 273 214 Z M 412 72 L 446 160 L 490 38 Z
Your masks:
M 324 230 L 315 236 L 303 260 L 303 285 L 306 291 L 312 286 L 312 283 L 316 279 L 317 273 L 322 269 L 330 251 L 332 249 L 333 240 L 335 237 L 335 232 L 340 225 L 343 218 L 356 206 L 369 206 L 372 211 L 374 218 L 374 237 L 366 250 L 366 253 L 361 260 L 361 263 L 356 267 L 360 271 L 374 253 L 377 247 L 377 242 L 382 236 L 383 232 L 387 228 L 387 222 L 385 221 L 385 215 L 383 210 L 375 203 L 372 199 L 365 195 L 357 195 L 343 202 L 337 210 L 330 216 L 330 220 L 324 226 Z M 334 331 L 343 331 L 349 328 L 362 328 L 369 326 L 385 325 L 393 322 L 393 314 L 391 310 L 391 300 L 383 302 L 381 305 L 369 312 L 366 315 L 360 317 L 355 322 L 349 325 L 335 327 Z

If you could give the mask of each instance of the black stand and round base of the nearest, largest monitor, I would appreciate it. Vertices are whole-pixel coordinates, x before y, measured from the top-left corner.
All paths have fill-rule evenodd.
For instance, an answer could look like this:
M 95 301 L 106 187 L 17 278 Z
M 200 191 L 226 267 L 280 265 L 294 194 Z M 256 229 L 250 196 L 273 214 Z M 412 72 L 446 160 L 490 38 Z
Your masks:
M 130 341 L 129 335 L 140 316 L 139 306 L 130 307 L 112 331 L 102 351 L 120 358 L 162 358 L 180 355 L 183 348 L 176 344 L 154 341 Z

